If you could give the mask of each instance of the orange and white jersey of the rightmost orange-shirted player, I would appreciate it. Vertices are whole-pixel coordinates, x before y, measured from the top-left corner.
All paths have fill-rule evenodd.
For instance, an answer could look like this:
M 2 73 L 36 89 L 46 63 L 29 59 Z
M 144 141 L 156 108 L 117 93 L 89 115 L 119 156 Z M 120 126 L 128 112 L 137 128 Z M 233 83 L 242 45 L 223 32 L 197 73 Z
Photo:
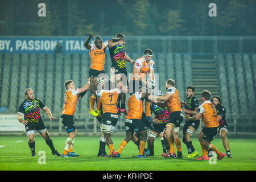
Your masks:
M 202 114 L 205 127 L 218 127 L 217 110 L 210 101 L 205 101 L 201 104 L 197 113 Z

